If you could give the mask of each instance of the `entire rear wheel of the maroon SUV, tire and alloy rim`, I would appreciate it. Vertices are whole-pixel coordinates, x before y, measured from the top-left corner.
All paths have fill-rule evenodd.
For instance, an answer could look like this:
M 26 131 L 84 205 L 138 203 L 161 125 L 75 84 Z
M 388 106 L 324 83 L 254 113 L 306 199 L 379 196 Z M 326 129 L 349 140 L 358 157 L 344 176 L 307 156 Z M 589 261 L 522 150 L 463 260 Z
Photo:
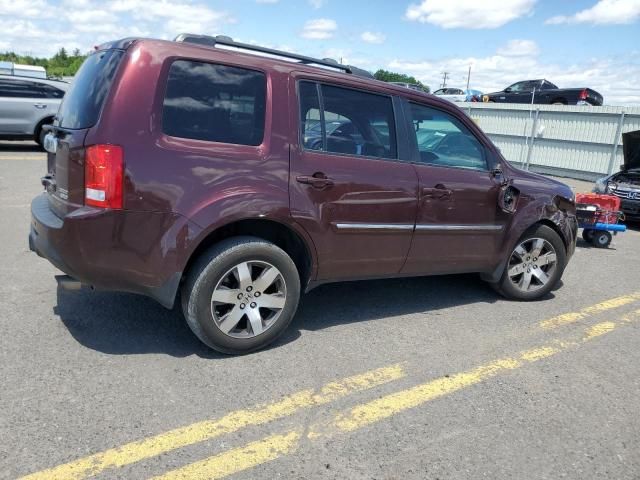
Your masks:
M 282 334 L 299 297 L 298 271 L 282 249 L 259 238 L 236 237 L 196 261 L 182 289 L 182 309 L 204 344 L 242 354 Z

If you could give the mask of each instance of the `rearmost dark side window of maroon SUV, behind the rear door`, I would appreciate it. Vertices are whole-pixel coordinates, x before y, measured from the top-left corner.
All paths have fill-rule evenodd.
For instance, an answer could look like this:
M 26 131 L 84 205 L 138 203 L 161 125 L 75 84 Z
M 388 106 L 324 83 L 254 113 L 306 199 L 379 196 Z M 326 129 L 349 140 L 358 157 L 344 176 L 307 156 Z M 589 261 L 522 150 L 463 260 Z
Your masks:
M 265 91 L 261 72 L 178 60 L 169 71 L 162 130 L 174 137 L 260 145 Z

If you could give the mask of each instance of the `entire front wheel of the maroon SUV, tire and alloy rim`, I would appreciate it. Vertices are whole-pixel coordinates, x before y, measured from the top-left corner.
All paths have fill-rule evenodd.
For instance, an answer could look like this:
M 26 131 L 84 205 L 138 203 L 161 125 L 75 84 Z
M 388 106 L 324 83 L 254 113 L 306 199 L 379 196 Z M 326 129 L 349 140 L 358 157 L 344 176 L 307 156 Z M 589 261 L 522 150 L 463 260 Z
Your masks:
M 537 300 L 555 287 L 565 263 L 565 247 L 560 236 L 546 225 L 537 225 L 518 240 L 498 291 L 515 300 Z

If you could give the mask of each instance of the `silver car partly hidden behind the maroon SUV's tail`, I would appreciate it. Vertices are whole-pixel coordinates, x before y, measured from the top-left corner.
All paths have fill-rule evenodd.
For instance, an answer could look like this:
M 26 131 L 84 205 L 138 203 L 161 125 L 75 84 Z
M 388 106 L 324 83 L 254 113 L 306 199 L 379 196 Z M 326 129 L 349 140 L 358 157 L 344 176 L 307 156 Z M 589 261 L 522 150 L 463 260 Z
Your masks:
M 35 140 L 40 145 L 53 122 L 67 82 L 0 75 L 0 140 Z

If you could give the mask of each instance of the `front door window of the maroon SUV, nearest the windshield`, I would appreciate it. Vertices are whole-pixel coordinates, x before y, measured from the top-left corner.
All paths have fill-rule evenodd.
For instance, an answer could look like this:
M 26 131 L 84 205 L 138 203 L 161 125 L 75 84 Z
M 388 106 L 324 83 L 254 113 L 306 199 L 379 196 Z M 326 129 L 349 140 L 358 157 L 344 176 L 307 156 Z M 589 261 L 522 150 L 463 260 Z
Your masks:
M 458 119 L 416 104 L 411 104 L 411 115 L 422 163 L 487 169 L 482 145 Z

